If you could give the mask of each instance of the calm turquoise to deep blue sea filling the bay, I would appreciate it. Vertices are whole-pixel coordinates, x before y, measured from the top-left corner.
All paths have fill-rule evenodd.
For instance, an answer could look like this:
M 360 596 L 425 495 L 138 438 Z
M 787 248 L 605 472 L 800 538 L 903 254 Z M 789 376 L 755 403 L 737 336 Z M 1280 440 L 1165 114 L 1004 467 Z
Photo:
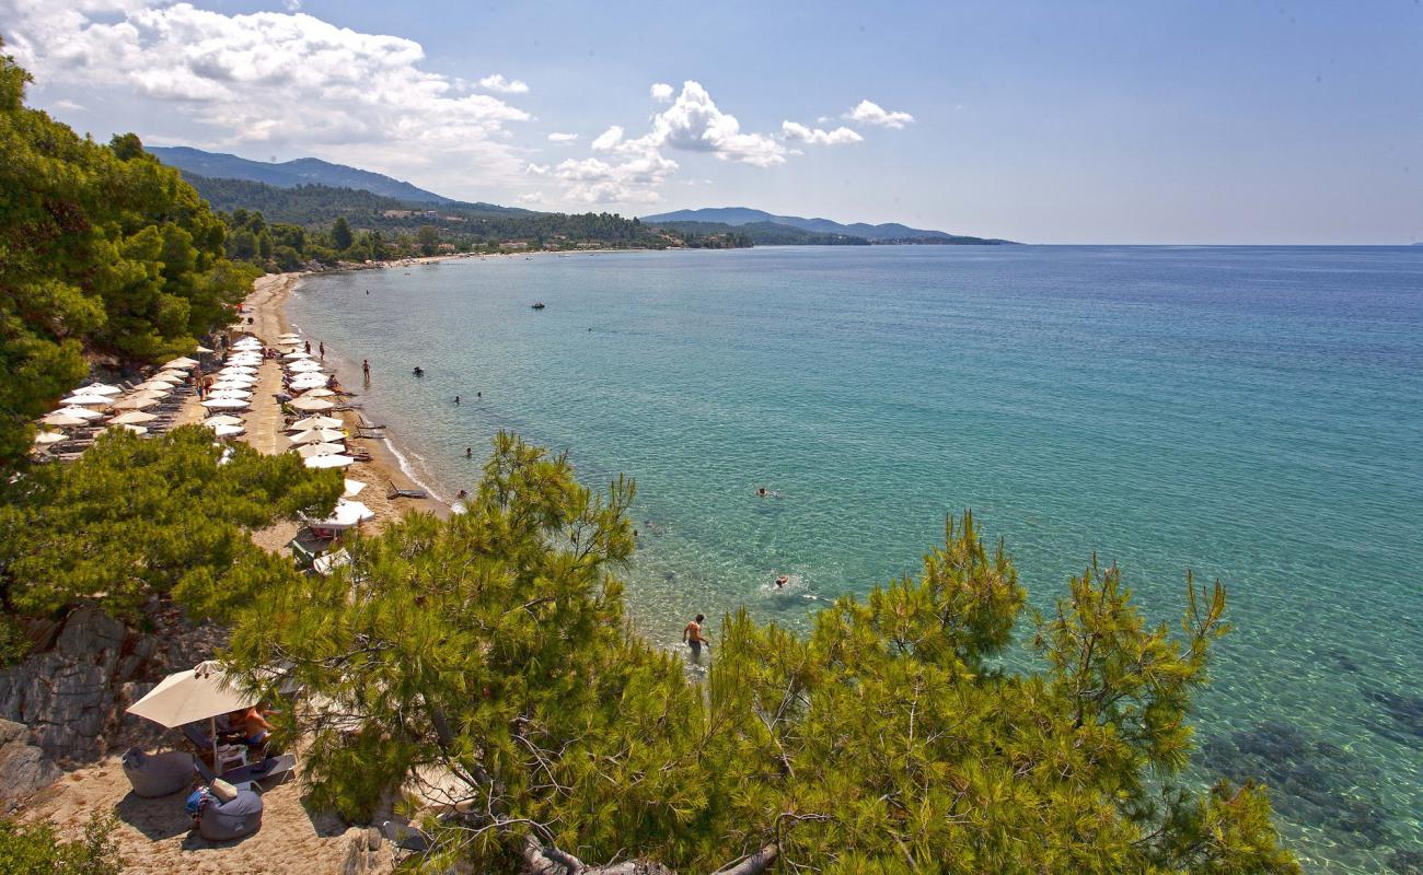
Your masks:
M 635 477 L 667 646 L 737 605 L 804 626 L 962 508 L 1039 606 L 1093 551 L 1173 623 L 1218 576 L 1201 777 L 1268 781 L 1311 871 L 1423 868 L 1423 250 L 535 256 L 312 277 L 290 314 L 349 386 L 370 359 L 445 495 L 499 428 Z

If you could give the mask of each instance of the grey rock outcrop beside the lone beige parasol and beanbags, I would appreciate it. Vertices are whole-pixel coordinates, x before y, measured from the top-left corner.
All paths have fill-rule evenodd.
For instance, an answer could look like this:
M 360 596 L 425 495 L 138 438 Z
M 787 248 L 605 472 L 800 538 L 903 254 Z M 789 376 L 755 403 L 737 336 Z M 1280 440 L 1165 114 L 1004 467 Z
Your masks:
M 209 659 L 223 633 L 185 623 L 171 605 L 152 603 L 139 632 L 94 605 L 46 629 L 37 652 L 0 672 L 0 718 L 24 724 L 27 743 L 58 765 L 92 763 L 159 728 L 124 709 L 166 674 Z

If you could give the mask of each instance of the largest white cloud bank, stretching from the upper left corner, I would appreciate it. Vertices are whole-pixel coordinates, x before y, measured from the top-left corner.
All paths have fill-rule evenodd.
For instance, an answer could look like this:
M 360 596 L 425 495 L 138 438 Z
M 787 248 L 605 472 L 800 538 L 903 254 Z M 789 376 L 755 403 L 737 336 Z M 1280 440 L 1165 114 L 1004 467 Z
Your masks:
M 507 125 L 528 112 L 423 70 L 424 50 L 401 37 L 164 0 L 0 0 L 0 20 L 41 83 L 171 101 L 195 145 L 474 182 L 515 179 L 522 164 Z

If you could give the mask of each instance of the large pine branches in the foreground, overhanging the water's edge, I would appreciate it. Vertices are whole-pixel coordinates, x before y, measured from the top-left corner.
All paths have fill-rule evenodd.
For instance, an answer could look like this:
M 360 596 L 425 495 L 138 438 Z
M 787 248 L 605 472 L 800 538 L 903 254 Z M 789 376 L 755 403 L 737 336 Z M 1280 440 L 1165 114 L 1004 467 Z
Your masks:
M 433 869 L 1298 871 L 1262 788 L 1177 780 L 1220 586 L 1188 582 L 1173 636 L 1093 563 L 1030 617 L 1037 670 L 1009 672 L 1025 592 L 965 514 L 919 576 L 808 635 L 727 616 L 696 682 L 626 627 L 632 497 L 499 435 L 467 514 L 407 518 L 253 605 L 232 657 L 305 686 L 285 728 L 310 740 L 313 804 L 443 804 L 413 861 Z

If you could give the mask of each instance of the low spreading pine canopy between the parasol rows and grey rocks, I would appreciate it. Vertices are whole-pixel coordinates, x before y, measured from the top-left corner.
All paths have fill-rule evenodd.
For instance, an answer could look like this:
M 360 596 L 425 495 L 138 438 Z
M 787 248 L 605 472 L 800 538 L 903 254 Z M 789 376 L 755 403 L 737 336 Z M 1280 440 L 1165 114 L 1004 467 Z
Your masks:
M 329 514 L 342 477 L 246 444 L 223 461 L 211 431 L 185 425 L 157 440 L 104 434 L 80 460 L 37 465 L 0 492 L 7 613 L 95 599 L 134 619 L 148 598 L 171 595 L 195 616 L 221 619 L 295 578 L 292 562 L 258 548 L 252 532 Z

